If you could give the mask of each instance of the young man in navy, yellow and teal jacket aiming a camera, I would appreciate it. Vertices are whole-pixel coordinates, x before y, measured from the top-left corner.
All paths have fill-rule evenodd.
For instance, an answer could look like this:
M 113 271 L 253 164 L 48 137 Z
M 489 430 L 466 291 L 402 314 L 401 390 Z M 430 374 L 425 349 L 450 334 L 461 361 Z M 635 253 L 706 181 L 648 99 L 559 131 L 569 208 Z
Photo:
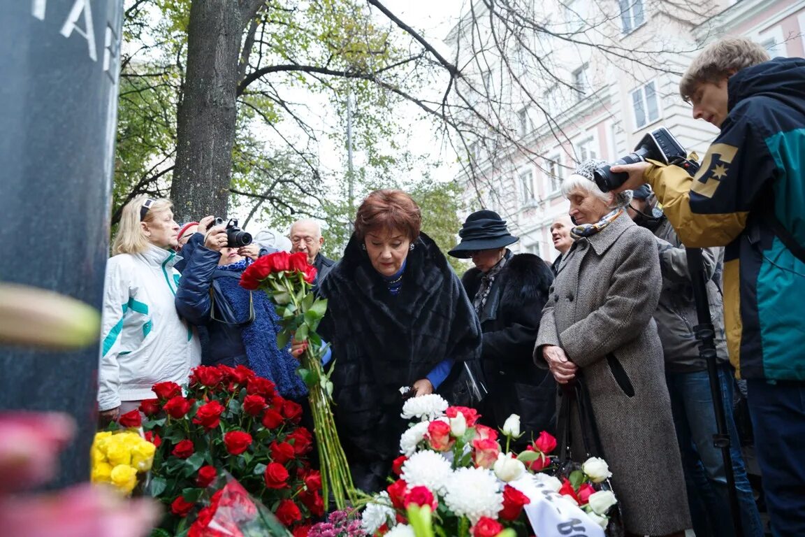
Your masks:
M 613 166 L 629 176 L 615 189 L 651 184 L 686 246 L 726 247 L 729 355 L 749 387 L 772 531 L 805 535 L 805 60 L 720 39 L 679 91 L 721 130 L 699 171 Z

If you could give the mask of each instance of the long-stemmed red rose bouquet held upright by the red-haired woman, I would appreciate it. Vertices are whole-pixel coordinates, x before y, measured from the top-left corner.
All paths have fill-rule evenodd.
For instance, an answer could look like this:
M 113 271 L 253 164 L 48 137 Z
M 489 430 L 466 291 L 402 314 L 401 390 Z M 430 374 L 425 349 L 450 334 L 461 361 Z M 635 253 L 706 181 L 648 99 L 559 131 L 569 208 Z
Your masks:
M 274 302 L 283 326 L 278 336 L 281 349 L 291 338 L 308 341 L 300 357 L 299 375 L 308 386 L 322 488 L 325 498 L 332 492 L 338 509 L 344 509 L 347 500 L 354 499 L 353 482 L 330 409 L 332 382 L 321 366 L 326 349 L 316 334 L 316 328 L 327 311 L 327 300 L 316 299 L 311 292 L 315 280 L 316 268 L 308 264 L 304 252 L 276 252 L 264 255 L 248 266 L 241 275 L 241 286 L 250 290 L 262 289 Z

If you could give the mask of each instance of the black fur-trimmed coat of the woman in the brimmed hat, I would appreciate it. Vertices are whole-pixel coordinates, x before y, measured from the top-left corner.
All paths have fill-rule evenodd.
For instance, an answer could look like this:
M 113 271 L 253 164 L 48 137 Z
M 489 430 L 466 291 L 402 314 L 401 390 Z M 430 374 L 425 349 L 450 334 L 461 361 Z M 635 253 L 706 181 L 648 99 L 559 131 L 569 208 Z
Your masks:
M 555 427 L 556 385 L 547 370 L 534 365 L 532 354 L 539 320 L 553 282 L 551 268 L 534 254 L 513 255 L 495 278 L 481 311 L 481 362 L 489 390 L 486 421 L 501 427 L 511 414 L 520 416 L 522 442 Z M 470 300 L 483 273 L 472 268 L 461 283 Z M 491 415 L 490 415 L 491 414 Z M 522 443 L 521 442 L 521 443 Z

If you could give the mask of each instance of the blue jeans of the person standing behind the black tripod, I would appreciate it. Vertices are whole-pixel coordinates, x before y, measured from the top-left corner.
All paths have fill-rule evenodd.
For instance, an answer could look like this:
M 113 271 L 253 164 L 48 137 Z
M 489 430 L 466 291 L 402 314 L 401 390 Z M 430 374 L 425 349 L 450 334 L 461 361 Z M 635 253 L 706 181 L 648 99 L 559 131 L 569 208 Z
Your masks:
M 763 523 L 746 476 L 741 441 L 733 419 L 733 375 L 729 366 L 719 366 L 718 378 L 730 440 L 730 456 L 745 537 L 763 537 Z M 707 371 L 666 373 L 671 410 L 687 485 L 693 531 L 696 537 L 735 535 L 729 489 L 721 449 L 713 446 L 716 411 Z M 792 534 L 793 535 L 793 534 Z

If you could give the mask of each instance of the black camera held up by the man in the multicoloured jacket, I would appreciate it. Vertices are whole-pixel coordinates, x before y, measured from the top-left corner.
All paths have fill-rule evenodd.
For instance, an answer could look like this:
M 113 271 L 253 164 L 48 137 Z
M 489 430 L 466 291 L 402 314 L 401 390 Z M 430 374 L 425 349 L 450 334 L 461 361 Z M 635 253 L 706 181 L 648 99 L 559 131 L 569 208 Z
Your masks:
M 612 164 L 598 168 L 596 171 L 592 172 L 592 176 L 598 188 L 601 189 L 601 192 L 609 192 L 614 188 L 618 188 L 621 184 L 625 183 L 625 180 L 629 179 L 628 173 L 613 173 L 609 171 L 610 167 L 621 164 L 634 164 L 646 159 L 658 160 L 666 164 L 675 164 L 679 167 L 683 167 L 693 176 L 699 169 L 699 164 L 696 163 L 696 161 L 688 160 L 686 157 L 687 151 L 682 147 L 682 144 L 676 141 L 676 138 L 674 138 L 670 130 L 661 126 L 643 136 L 638 146 L 634 148 L 634 153 L 630 153 Z

